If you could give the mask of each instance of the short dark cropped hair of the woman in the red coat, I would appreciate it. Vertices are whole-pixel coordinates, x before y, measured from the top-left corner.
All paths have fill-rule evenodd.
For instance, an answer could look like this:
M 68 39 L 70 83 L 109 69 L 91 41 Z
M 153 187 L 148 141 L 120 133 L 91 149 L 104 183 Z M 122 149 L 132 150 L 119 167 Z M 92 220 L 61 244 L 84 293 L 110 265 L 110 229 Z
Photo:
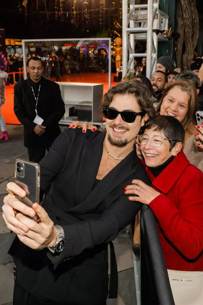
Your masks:
M 174 117 L 166 115 L 158 115 L 154 119 L 149 119 L 144 125 L 145 129 L 154 129 L 154 131 L 162 131 L 167 139 L 171 139 L 170 149 L 176 145 L 176 143 L 184 142 L 185 130 L 183 125 Z

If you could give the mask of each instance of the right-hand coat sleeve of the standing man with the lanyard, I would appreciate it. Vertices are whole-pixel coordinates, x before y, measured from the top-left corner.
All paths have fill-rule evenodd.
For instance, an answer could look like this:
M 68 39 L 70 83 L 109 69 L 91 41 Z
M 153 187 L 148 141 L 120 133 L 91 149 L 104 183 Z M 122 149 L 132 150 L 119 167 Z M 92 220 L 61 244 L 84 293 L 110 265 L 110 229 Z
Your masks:
M 61 97 L 61 90 L 58 84 L 55 84 L 53 91 L 54 107 L 51 114 L 43 121 L 43 126 L 48 126 L 53 123 L 59 123 L 65 113 L 65 104 Z

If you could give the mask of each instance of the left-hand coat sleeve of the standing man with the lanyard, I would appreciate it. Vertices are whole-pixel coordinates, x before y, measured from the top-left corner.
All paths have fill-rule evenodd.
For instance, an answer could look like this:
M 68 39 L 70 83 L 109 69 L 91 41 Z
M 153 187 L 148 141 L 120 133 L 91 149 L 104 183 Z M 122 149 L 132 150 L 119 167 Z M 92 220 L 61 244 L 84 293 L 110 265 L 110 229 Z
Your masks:
M 20 94 L 20 90 L 17 86 L 14 86 L 14 113 L 20 123 L 32 132 L 37 124 L 33 123 L 32 120 L 27 116 L 27 113 L 24 109 L 23 103 L 23 96 Z

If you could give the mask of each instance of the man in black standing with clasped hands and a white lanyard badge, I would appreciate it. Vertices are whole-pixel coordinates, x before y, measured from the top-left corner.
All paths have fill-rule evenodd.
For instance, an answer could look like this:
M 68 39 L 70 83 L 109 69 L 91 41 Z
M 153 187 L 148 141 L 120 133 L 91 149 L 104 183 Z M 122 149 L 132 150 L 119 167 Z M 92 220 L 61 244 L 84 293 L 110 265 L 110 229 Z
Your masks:
M 29 160 L 39 163 L 61 133 L 65 105 L 59 85 L 42 77 L 41 59 L 29 58 L 27 67 L 30 77 L 14 87 L 14 112 L 24 126 Z

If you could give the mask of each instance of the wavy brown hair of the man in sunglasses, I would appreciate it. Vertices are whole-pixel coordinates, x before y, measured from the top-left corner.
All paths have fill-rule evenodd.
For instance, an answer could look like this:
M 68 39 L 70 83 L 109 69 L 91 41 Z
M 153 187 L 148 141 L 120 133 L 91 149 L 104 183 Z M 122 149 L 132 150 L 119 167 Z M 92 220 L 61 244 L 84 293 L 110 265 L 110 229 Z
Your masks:
M 115 94 L 133 94 L 142 112 L 148 114 L 151 118 L 155 117 L 154 97 L 141 81 L 120 82 L 111 87 L 103 96 L 101 110 L 103 107 L 109 107 Z

